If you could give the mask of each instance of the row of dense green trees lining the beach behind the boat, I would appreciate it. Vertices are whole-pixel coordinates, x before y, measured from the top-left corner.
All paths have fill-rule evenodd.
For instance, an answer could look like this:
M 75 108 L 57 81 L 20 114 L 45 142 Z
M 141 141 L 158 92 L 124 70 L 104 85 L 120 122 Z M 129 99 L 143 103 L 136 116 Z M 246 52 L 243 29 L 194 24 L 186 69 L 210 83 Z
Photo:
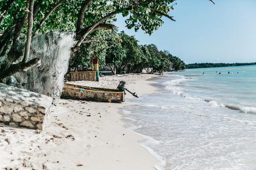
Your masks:
M 70 62 L 76 70 L 91 67 L 91 59 L 99 59 L 101 67 L 109 66 L 116 73 L 161 73 L 185 69 L 185 63 L 168 51 L 160 51 L 155 44 L 140 45 L 134 36 L 125 32 L 101 32 L 101 43 L 83 46 Z

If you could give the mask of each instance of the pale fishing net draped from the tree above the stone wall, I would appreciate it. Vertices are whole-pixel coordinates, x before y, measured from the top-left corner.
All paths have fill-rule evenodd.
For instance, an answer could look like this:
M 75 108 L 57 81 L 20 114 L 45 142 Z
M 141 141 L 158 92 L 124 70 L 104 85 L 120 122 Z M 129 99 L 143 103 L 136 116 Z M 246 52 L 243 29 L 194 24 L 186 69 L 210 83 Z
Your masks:
M 71 57 L 71 48 L 76 43 L 74 36 L 72 32 L 55 31 L 33 37 L 29 60 L 38 57 L 42 64 L 27 72 L 15 74 L 13 84 L 51 96 L 53 99 L 59 98 Z

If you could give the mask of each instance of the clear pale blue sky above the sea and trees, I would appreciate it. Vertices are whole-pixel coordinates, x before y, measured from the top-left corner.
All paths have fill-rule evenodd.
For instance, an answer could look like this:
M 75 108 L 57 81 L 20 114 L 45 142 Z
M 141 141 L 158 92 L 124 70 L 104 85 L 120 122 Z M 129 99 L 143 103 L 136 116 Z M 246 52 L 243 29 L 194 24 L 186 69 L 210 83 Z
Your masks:
M 156 44 L 185 63 L 256 62 L 256 0 L 177 0 L 176 22 L 164 24 L 151 36 L 125 27 L 117 16 L 119 31 L 135 36 L 140 44 Z

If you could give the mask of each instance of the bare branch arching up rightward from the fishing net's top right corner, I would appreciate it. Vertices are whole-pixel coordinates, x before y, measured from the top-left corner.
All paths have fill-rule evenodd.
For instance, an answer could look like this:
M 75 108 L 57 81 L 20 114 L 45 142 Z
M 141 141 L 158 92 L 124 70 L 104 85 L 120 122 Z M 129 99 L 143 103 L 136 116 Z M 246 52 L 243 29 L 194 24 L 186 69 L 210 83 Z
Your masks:
M 80 40 L 76 43 L 75 47 L 72 48 L 72 51 L 76 52 L 80 48 L 83 40 L 88 36 L 88 34 L 90 34 L 93 31 L 93 29 L 95 29 L 97 26 L 99 26 L 100 23 L 104 22 L 106 19 L 114 16 L 115 14 L 116 14 L 116 11 L 111 12 L 107 14 L 105 17 L 102 17 L 101 19 L 99 19 L 99 21 L 95 22 L 91 26 L 88 26 L 87 28 L 85 28 L 83 35 L 81 36 Z

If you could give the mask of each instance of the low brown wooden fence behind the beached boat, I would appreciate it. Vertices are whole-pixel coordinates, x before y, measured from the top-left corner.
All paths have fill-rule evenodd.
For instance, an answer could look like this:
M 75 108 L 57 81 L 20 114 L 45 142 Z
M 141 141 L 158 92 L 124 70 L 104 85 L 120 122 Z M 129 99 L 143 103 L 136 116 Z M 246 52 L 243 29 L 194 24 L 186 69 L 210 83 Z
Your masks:
M 69 72 L 66 74 L 67 81 L 97 81 L 96 71 Z

